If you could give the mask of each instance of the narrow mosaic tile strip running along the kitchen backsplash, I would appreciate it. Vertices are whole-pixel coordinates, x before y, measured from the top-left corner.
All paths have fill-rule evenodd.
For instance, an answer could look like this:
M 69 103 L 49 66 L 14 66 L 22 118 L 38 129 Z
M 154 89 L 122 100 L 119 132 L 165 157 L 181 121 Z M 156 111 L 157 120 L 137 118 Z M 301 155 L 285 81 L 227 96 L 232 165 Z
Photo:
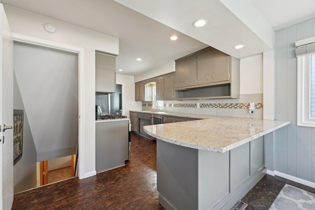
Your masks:
M 142 102 L 143 107 L 152 107 L 151 102 Z M 200 108 L 215 108 L 215 109 L 248 109 L 250 103 L 199 103 Z M 164 103 L 164 107 L 167 104 Z M 168 107 L 178 108 L 197 108 L 197 103 L 168 103 Z M 255 103 L 255 109 L 263 109 L 263 103 Z

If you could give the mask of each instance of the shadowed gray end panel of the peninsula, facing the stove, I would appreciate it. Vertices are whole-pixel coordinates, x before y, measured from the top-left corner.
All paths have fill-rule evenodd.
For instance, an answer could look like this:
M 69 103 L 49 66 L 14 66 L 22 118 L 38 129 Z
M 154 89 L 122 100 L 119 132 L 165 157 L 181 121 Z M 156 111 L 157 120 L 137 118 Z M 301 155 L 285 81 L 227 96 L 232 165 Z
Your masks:
M 157 186 L 167 210 L 197 210 L 198 150 L 157 140 Z

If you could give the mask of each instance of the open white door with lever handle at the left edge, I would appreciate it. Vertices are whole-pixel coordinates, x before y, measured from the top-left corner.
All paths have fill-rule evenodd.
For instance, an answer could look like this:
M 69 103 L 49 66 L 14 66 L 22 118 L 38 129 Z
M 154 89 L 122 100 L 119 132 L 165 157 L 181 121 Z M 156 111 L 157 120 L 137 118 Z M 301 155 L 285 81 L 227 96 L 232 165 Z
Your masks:
M 0 210 L 13 203 L 13 40 L 3 5 L 0 4 Z

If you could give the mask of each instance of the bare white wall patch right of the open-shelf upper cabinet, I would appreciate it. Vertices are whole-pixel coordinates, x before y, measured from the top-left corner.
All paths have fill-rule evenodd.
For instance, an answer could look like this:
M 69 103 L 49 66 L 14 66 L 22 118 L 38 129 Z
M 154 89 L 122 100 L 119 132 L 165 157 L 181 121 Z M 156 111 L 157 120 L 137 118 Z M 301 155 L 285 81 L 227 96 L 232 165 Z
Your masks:
M 263 92 L 262 54 L 240 60 L 240 94 Z

